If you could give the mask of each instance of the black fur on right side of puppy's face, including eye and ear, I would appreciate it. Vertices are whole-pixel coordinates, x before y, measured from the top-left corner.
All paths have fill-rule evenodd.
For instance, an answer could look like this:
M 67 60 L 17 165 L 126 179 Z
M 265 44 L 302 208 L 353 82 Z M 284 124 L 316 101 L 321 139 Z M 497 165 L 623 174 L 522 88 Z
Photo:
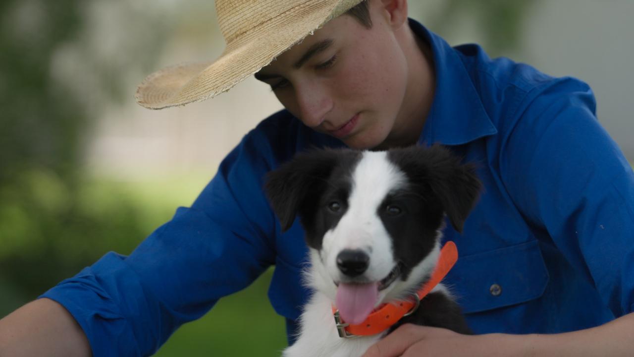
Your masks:
M 481 184 L 470 165 L 463 165 L 439 145 L 429 149 L 407 147 L 387 152 L 407 177 L 405 187 L 391 192 L 378 216 L 392 238 L 395 260 L 401 262 L 401 280 L 431 252 L 444 214 L 462 232 Z M 400 213 L 390 213 L 396 208 Z

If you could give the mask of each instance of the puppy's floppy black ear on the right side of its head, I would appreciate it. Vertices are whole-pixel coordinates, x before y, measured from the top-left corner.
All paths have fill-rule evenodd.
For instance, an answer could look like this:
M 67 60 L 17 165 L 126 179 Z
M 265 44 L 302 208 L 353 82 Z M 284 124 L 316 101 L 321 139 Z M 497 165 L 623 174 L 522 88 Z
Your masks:
M 482 189 L 475 175 L 475 166 L 460 163 L 460 158 L 441 145 L 398 151 L 395 161 L 401 161 L 399 165 L 410 175 L 414 173 L 416 185 L 423 184 L 425 191 L 431 191 L 436 196 L 451 226 L 462 233 L 465 220 Z

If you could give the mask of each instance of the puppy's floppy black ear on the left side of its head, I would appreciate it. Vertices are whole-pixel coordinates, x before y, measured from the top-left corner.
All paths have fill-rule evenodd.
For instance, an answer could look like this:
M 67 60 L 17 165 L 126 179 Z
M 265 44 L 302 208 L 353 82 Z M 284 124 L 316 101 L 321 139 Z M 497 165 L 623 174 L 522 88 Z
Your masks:
M 264 191 L 283 231 L 292 226 L 298 213 L 316 205 L 336 160 L 334 150 L 306 152 L 266 175 Z

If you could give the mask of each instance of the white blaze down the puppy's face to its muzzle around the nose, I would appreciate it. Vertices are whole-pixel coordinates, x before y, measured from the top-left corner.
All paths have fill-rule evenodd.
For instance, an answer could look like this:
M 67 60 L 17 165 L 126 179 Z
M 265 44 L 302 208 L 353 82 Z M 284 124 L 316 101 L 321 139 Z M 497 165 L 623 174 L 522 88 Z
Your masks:
M 382 280 L 396 262 L 392 240 L 377 212 L 385 196 L 402 187 L 406 177 L 387 159 L 387 152 L 366 151 L 354 168 L 352 181 L 348 210 L 339 224 L 324 235 L 321 258 L 332 280 L 340 281 L 337 255 L 346 249 L 363 250 L 370 256 L 365 278 Z

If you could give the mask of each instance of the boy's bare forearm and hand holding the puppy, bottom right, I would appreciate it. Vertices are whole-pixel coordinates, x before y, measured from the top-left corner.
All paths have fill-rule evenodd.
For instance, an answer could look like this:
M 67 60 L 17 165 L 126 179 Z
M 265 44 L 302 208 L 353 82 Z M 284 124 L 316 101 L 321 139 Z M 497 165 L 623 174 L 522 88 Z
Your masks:
M 634 314 L 629 314 L 599 327 L 552 335 L 461 335 L 444 328 L 405 324 L 371 346 L 363 357 L 630 357 L 632 351 Z

